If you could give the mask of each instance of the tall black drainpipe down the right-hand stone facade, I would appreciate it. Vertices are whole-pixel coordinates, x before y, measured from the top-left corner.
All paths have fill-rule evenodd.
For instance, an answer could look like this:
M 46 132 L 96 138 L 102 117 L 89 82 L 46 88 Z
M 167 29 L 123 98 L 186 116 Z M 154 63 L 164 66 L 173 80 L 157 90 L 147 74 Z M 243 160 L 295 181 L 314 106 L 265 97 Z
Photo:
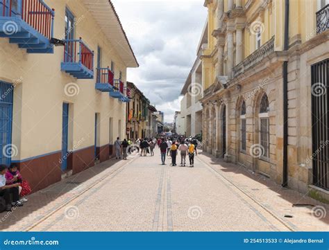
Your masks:
M 283 51 L 289 50 L 289 0 L 285 0 L 285 37 Z M 282 187 L 288 187 L 288 61 L 283 62 L 283 170 Z

